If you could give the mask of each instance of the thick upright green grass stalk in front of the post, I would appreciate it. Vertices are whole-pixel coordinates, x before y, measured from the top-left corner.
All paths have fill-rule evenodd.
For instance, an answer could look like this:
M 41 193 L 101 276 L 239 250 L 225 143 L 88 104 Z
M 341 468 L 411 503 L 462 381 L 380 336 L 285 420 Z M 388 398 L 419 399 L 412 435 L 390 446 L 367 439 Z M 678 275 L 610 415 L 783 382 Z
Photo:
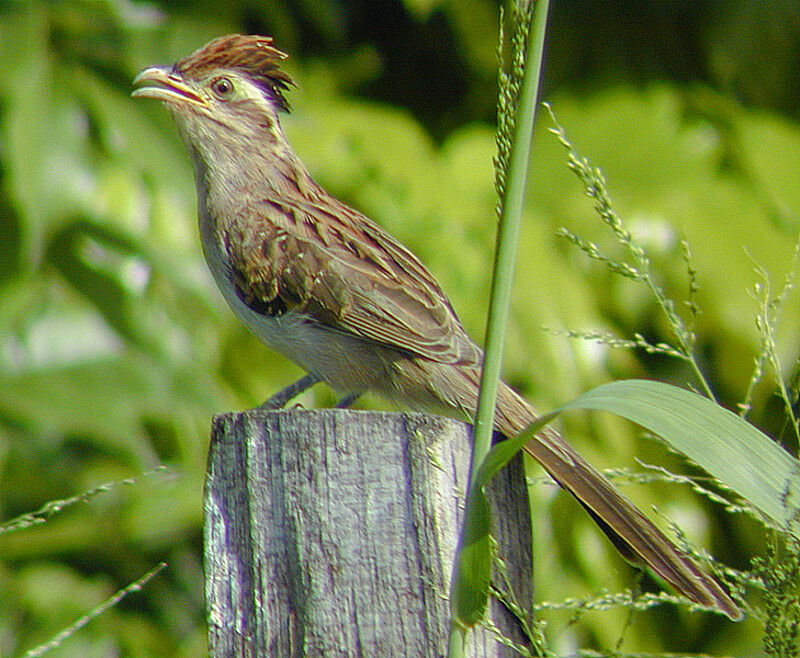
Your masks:
M 495 400 L 500 379 L 506 319 L 511 301 L 511 288 L 527 185 L 534 118 L 539 103 L 539 80 L 549 4 L 549 0 L 536 0 L 533 22 L 526 45 L 526 65 L 517 103 L 510 165 L 495 249 L 492 290 L 489 298 L 489 315 L 486 328 L 486 355 L 484 357 L 474 423 L 470 487 L 492 443 Z M 459 559 L 460 556 L 457 554 L 456 560 L 458 561 Z M 455 566 L 454 574 L 459 572 L 458 565 Z M 464 655 L 464 641 L 467 630 L 458 620 L 453 620 L 448 650 L 450 658 L 461 658 Z

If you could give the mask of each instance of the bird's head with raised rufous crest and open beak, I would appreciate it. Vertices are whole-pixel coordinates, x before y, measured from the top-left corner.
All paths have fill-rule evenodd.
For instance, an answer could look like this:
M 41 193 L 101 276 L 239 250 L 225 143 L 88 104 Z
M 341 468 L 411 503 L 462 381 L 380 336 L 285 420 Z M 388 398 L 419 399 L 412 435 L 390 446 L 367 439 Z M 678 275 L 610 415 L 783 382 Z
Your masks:
M 279 68 L 285 58 L 269 37 L 232 34 L 171 67 L 145 69 L 132 95 L 163 101 L 205 161 L 263 149 L 282 140 L 278 113 L 288 111 L 284 92 L 293 84 Z

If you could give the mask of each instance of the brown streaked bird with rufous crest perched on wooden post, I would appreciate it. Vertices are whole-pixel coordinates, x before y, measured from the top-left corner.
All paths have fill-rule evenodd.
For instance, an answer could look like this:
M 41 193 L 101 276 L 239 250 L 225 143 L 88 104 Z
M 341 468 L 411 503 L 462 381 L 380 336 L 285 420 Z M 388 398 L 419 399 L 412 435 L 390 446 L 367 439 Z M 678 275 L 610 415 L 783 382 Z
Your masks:
M 132 95 L 162 101 L 195 174 L 200 240 L 227 303 L 303 379 L 281 406 L 322 381 L 348 396 L 373 391 L 414 409 L 470 419 L 483 351 L 428 268 L 386 230 L 311 177 L 280 124 L 294 83 L 272 38 L 216 38 L 172 66 L 143 70 Z M 494 429 L 515 436 L 536 419 L 501 382 Z M 737 604 L 561 435 L 525 446 L 628 561 L 690 601 L 733 620 Z

